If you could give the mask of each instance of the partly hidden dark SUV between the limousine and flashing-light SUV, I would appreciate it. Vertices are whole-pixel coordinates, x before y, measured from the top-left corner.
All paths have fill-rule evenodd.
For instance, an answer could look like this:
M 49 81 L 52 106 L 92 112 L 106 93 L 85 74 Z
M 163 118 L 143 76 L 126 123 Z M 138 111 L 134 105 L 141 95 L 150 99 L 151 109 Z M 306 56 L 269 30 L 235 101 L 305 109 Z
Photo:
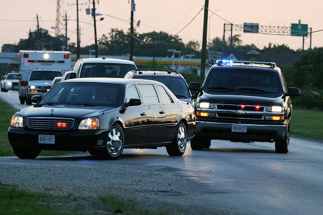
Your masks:
M 161 82 L 181 101 L 193 105 L 191 93 L 184 77 L 175 70 L 166 69 L 136 69 L 128 71 L 125 79 L 147 79 Z

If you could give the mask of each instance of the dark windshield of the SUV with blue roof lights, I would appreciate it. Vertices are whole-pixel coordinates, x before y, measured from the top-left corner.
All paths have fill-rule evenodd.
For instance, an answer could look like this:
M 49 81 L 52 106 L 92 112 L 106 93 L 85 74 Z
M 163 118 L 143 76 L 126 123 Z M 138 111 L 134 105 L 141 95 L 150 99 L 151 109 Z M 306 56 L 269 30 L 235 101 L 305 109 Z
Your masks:
M 212 69 L 204 89 L 209 92 L 283 93 L 277 73 L 253 69 Z

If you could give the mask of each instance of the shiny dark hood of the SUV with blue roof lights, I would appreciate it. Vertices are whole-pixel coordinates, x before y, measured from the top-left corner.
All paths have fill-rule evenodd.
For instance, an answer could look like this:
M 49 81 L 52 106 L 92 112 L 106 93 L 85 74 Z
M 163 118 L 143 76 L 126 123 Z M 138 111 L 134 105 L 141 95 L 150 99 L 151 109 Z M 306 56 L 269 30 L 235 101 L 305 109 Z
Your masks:
M 207 94 L 203 92 L 203 95 L 200 96 L 197 102 L 209 102 L 216 104 L 236 104 L 236 105 L 259 105 L 261 106 L 274 106 L 274 105 L 283 105 L 284 100 L 282 95 L 272 95 L 268 94 L 267 97 L 264 94 L 259 96 L 258 94 L 253 95 L 228 95 L 228 94 Z

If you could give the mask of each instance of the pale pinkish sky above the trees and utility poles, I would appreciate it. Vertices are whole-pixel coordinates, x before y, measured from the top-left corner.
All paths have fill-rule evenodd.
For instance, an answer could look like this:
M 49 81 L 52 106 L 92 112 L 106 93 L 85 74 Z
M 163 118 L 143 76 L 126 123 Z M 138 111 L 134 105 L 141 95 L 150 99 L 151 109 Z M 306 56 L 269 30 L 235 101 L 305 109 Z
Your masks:
M 6 3 L 5 3 L 6 2 Z M 4 43 L 17 43 L 20 38 L 27 38 L 29 29 L 37 28 L 36 14 L 41 28 L 55 35 L 56 0 L 12 0 L 5 1 L 0 8 L 0 47 Z M 67 12 L 68 37 L 76 42 L 76 0 L 61 0 L 64 11 Z M 81 46 L 94 44 L 93 19 L 86 15 L 85 9 L 92 8 L 92 0 L 79 0 L 79 19 L 81 28 Z M 127 31 L 130 28 L 131 0 L 99 0 L 96 1 L 97 36 L 108 34 L 111 28 Z M 64 3 L 64 4 L 63 4 Z M 204 0 L 135 0 L 134 25 L 140 20 L 138 33 L 164 31 L 177 34 L 186 43 L 190 40 L 202 41 Z M 323 29 L 322 0 L 209 0 L 209 10 L 233 24 L 259 23 L 263 26 L 285 26 L 291 23 L 308 24 L 312 31 Z M 197 15 L 198 14 L 198 15 Z M 109 16 L 107 16 L 109 15 Z M 197 16 L 196 16 L 197 15 Z M 65 13 L 64 13 L 65 16 Z M 111 17 L 112 16 L 112 17 Z M 194 19 L 194 17 L 196 18 Z M 216 15 L 210 16 L 210 38 L 223 37 L 223 26 L 226 23 Z M 98 21 L 104 17 L 103 21 Z M 193 21 L 192 21 L 193 20 Z M 191 22 L 192 21 L 192 22 Z M 185 26 L 191 22 L 186 28 Z M 184 29 L 184 30 L 182 30 Z M 64 31 L 65 32 L 65 31 Z M 229 32 L 227 32 L 229 33 Z M 302 37 L 261 35 L 253 33 L 233 32 L 240 34 L 243 44 L 255 44 L 259 48 L 274 44 L 286 44 L 290 48 L 302 48 Z M 208 34 L 207 34 L 208 36 Z M 226 35 L 228 39 L 229 35 Z M 309 47 L 310 38 L 305 37 L 305 49 Z M 312 34 L 312 48 L 323 46 L 323 31 Z M 221 50 L 220 50 L 221 51 Z

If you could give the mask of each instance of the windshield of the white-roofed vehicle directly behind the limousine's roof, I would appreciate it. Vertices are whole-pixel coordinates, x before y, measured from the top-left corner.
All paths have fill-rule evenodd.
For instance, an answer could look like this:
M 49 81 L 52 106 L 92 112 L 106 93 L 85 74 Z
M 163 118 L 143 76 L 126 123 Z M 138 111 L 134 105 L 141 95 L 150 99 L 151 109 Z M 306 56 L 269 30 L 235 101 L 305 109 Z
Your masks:
M 124 78 L 135 65 L 123 63 L 84 63 L 80 78 Z

